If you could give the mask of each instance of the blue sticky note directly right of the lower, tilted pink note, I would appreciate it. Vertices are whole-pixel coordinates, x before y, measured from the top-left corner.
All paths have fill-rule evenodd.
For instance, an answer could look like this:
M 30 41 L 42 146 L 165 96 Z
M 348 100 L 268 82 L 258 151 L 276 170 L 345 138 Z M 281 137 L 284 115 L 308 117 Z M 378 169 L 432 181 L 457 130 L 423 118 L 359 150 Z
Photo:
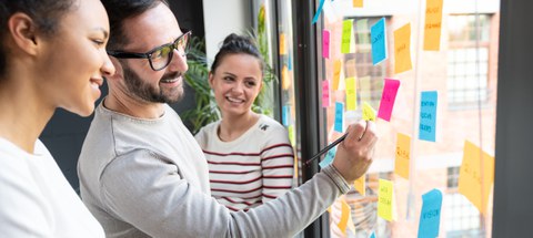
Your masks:
M 420 100 L 420 139 L 435 142 L 436 100 L 436 91 L 422 92 Z

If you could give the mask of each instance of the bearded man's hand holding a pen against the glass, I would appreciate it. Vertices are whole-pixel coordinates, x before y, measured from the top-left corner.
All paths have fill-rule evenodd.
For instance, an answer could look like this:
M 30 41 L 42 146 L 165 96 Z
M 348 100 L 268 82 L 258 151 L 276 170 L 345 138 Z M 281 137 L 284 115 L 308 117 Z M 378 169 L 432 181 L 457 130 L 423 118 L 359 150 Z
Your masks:
M 348 183 L 353 183 L 372 164 L 378 136 L 375 124 L 370 121 L 350 125 L 346 133 L 346 138 L 339 144 L 333 166 Z

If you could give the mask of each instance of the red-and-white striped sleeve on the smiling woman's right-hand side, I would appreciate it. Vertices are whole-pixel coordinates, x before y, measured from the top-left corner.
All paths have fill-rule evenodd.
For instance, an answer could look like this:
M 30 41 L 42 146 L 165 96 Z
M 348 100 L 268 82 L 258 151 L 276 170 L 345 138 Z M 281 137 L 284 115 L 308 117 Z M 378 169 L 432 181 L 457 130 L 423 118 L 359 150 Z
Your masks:
M 290 190 L 294 176 L 294 153 L 286 131 L 283 127 L 273 130 L 269 137 L 260 153 L 263 204 Z

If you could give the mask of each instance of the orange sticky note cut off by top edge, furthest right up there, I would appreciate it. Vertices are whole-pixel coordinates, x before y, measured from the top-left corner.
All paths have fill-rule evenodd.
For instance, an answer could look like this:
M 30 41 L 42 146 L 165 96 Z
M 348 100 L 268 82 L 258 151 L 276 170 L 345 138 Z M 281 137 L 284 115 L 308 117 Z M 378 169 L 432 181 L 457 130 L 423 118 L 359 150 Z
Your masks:
M 424 50 L 441 48 L 442 0 L 425 1 Z

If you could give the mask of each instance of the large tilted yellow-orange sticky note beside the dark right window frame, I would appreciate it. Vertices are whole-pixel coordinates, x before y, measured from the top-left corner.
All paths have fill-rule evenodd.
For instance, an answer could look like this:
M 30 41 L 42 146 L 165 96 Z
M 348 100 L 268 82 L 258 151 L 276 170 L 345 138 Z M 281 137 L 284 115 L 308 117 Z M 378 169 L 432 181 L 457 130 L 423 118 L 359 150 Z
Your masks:
M 463 162 L 459 172 L 459 193 L 486 213 L 486 203 L 494 183 L 494 157 L 469 141 L 464 142 Z

